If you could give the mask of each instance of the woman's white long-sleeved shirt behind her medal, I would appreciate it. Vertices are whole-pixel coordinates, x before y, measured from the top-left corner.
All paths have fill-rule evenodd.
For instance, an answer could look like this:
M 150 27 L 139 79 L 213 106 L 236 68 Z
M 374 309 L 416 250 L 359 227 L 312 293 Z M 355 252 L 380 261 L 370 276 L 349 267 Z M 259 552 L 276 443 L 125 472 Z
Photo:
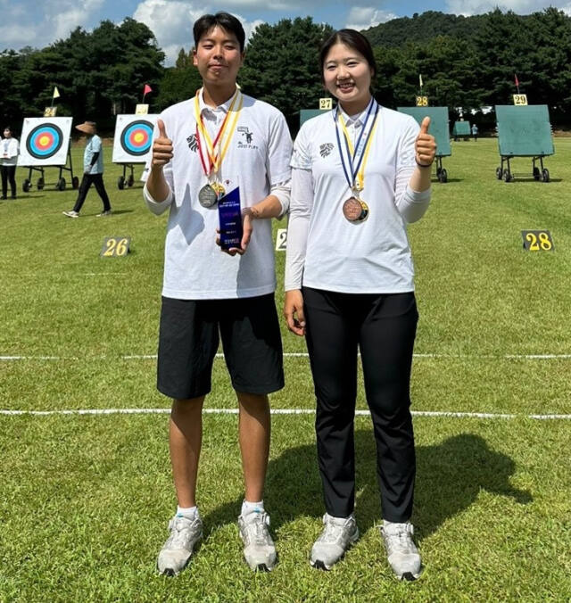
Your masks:
M 343 113 L 352 142 L 367 112 Z M 343 216 L 352 191 L 343 173 L 335 134 L 335 110 L 306 121 L 295 140 L 285 258 L 285 291 L 302 285 L 342 293 L 406 293 L 414 290 L 407 224 L 422 218 L 431 190 L 409 186 L 416 167 L 418 123 L 379 107 L 360 198 L 368 218 Z M 365 126 L 371 128 L 370 120 Z M 360 137 L 365 145 L 368 131 Z M 343 133 L 339 140 L 344 145 Z

